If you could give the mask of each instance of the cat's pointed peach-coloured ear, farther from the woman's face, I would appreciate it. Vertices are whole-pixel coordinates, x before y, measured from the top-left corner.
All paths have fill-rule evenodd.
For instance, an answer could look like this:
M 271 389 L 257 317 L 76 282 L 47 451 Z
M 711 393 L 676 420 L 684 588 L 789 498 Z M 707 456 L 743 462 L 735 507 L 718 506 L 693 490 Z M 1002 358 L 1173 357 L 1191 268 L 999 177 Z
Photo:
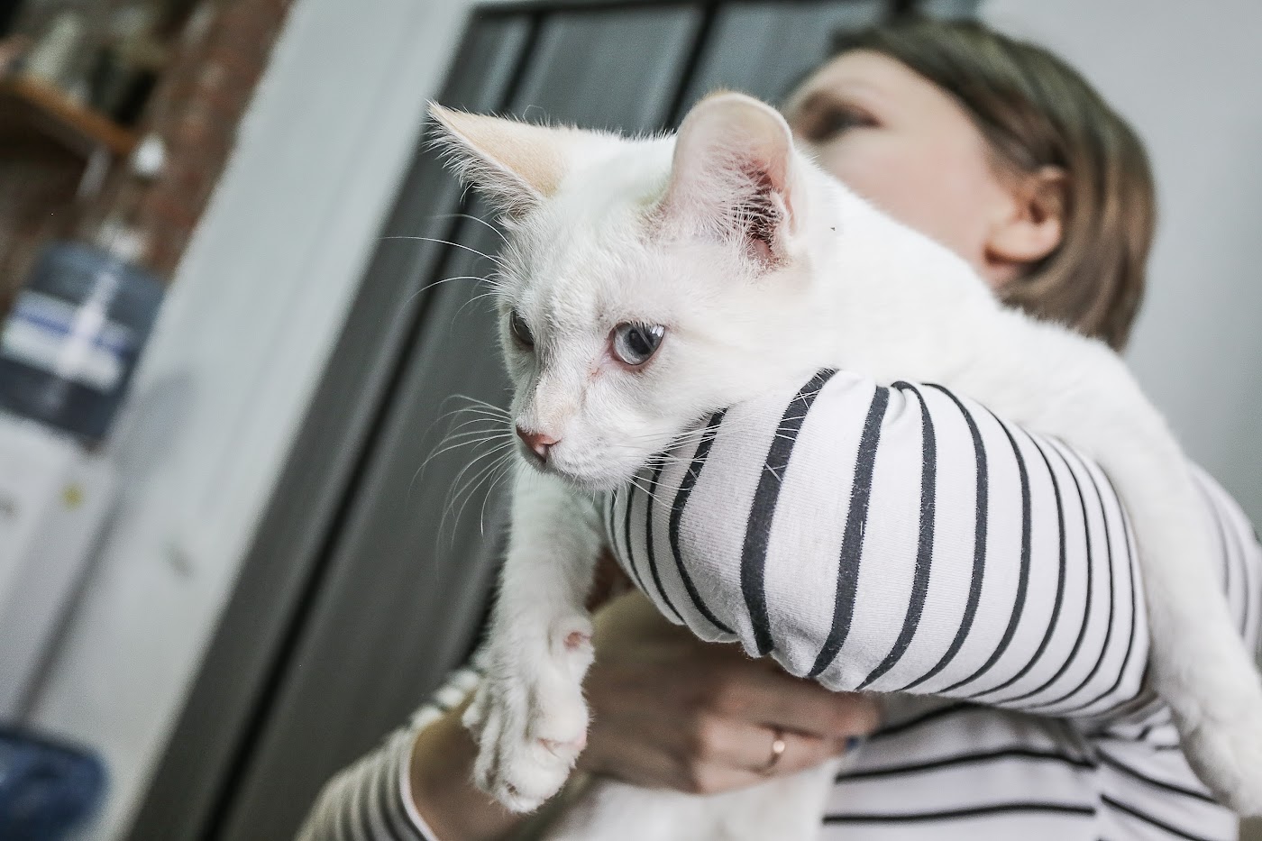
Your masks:
M 575 129 L 531 125 L 429 104 L 443 148 L 461 181 L 497 210 L 517 216 L 551 196 L 572 164 Z

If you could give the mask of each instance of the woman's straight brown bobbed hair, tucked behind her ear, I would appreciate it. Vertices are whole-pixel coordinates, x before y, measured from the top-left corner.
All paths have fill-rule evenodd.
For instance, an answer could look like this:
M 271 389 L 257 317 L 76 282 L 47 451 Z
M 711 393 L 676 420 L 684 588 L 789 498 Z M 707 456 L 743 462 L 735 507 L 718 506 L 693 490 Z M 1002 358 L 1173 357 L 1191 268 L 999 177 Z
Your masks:
M 834 57 L 854 49 L 888 56 L 952 95 L 1001 165 L 1064 170 L 1060 245 L 1001 295 L 1121 350 L 1156 224 L 1152 172 L 1131 126 L 1065 62 L 979 23 L 906 18 L 834 39 Z

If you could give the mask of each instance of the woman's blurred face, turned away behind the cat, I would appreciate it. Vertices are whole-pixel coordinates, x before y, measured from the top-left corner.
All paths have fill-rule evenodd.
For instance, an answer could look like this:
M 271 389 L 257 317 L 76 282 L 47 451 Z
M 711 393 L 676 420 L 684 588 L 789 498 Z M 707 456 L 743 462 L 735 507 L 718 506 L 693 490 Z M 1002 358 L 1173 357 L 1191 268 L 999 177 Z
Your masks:
M 933 82 L 856 51 L 808 78 L 785 115 L 822 167 L 963 256 L 993 287 L 1020 275 L 1023 263 L 996 236 L 1023 212 L 1013 179 L 996 170 L 986 138 Z

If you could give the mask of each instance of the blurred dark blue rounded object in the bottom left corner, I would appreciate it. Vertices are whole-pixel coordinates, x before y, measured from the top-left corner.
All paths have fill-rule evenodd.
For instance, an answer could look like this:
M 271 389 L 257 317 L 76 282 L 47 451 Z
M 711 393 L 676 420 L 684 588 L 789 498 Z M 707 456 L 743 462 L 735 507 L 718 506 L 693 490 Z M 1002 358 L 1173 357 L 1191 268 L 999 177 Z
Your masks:
M 105 766 L 81 748 L 0 727 L 0 838 L 62 841 L 105 792 Z

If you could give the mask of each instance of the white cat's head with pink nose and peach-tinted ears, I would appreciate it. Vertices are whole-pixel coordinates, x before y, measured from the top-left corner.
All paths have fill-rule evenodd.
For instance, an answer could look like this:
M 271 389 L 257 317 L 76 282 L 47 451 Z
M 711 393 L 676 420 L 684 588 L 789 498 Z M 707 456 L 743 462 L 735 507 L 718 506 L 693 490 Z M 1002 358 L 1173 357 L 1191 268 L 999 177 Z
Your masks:
M 827 191 L 774 109 L 718 93 L 656 138 L 432 112 L 505 222 L 500 340 L 528 461 L 610 489 L 811 370 L 809 206 Z

